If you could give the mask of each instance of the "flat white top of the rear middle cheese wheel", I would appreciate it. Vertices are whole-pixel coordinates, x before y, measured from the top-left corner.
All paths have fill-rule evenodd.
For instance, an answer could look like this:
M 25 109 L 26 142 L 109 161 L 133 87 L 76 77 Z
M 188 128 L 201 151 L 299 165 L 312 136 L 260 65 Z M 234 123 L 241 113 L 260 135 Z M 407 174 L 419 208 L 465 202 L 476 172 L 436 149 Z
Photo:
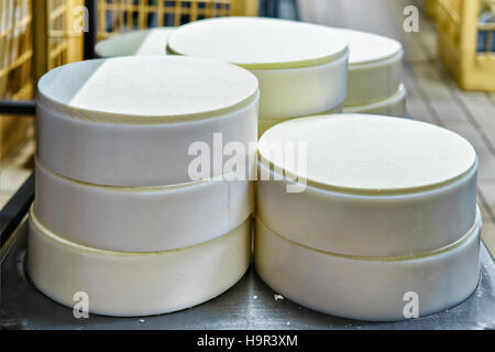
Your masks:
M 266 18 L 217 18 L 191 22 L 168 36 L 175 54 L 229 62 L 249 69 L 296 68 L 333 62 L 348 52 L 340 31 Z

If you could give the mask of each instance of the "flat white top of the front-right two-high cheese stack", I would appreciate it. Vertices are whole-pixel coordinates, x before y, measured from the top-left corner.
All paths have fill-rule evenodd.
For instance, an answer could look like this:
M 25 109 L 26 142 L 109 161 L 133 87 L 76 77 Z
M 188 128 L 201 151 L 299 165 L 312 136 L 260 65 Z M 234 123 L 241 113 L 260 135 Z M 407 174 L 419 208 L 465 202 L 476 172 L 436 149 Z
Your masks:
M 282 143 L 280 143 L 282 142 Z M 288 144 L 286 144 L 288 142 Z M 262 162 L 292 177 L 297 166 L 274 158 L 274 145 L 307 143 L 308 185 L 349 193 L 410 193 L 433 189 L 476 167 L 476 153 L 449 130 L 400 118 L 334 114 L 277 124 L 260 140 Z M 287 157 L 288 154 L 284 154 Z M 296 153 L 295 165 L 298 155 Z

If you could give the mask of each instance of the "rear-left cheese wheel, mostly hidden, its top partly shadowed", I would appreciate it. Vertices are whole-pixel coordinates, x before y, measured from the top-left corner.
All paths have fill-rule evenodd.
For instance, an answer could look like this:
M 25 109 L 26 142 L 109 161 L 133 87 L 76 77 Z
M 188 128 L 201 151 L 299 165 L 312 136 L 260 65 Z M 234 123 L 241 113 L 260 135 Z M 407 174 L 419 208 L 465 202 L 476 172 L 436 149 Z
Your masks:
M 117 35 L 95 46 L 98 57 L 165 55 L 168 34 L 174 28 L 157 28 Z

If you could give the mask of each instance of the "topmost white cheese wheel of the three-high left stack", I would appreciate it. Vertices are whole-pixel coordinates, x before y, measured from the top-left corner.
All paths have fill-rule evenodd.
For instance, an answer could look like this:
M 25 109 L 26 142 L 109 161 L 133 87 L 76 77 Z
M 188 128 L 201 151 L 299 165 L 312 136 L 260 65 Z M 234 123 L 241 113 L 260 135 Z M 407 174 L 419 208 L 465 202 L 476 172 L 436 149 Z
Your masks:
M 189 167 L 198 154 L 226 162 L 228 143 L 245 151 L 256 143 L 257 99 L 256 77 L 208 59 L 133 56 L 65 65 L 38 82 L 37 156 L 62 176 L 97 185 L 196 180 Z M 254 158 L 245 155 L 251 165 Z

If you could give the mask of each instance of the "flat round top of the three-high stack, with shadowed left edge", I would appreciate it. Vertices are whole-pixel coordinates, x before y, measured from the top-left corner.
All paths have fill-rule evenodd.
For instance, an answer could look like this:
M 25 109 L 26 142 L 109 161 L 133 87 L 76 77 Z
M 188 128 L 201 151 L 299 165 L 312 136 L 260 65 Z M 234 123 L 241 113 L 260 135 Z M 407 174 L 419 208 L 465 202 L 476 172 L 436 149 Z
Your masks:
M 109 123 L 200 120 L 245 107 L 257 79 L 234 65 L 178 56 L 129 56 L 57 67 L 38 81 L 37 102 Z

